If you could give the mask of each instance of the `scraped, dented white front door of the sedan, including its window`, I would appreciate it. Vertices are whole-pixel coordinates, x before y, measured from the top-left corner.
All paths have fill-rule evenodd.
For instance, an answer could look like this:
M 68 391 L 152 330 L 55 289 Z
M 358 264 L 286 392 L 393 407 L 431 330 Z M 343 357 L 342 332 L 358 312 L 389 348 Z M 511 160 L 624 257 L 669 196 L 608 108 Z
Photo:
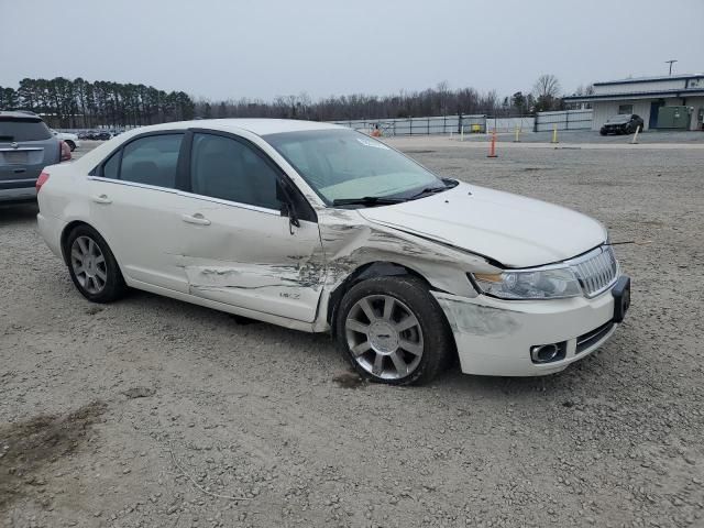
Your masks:
M 182 193 L 182 264 L 191 295 L 312 322 L 324 279 L 318 223 L 280 213 L 268 158 L 246 142 L 196 133 Z

